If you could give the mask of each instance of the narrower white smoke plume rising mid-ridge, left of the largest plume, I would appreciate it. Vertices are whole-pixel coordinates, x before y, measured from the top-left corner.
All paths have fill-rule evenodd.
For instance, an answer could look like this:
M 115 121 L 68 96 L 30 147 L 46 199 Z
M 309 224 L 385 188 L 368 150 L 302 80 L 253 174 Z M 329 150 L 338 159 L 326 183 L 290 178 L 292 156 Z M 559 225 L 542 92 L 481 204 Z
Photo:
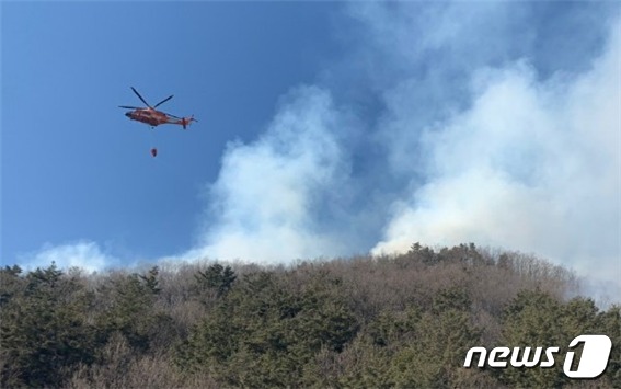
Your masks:
M 209 190 L 214 224 L 186 256 L 275 263 L 338 252 L 315 213 L 347 173 L 337 144 L 347 122 L 322 89 L 302 87 L 285 96 L 261 138 L 229 145 Z

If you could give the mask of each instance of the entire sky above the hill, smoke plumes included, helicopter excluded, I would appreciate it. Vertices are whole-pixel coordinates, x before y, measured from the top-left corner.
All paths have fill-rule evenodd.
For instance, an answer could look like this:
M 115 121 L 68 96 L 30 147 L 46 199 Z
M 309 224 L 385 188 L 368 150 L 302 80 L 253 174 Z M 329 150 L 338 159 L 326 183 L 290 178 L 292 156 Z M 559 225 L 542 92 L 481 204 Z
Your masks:
M 4 2 L 0 261 L 474 242 L 614 284 L 620 7 Z

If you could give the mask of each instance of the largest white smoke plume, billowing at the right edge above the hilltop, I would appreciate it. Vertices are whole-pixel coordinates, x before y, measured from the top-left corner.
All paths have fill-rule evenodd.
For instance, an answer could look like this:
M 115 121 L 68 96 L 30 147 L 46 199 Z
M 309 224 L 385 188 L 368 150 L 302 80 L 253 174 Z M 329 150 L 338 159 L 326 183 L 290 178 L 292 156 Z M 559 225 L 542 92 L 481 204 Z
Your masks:
M 426 182 L 372 251 L 473 241 L 620 276 L 620 31 L 577 76 L 476 71 L 472 106 L 422 133 Z

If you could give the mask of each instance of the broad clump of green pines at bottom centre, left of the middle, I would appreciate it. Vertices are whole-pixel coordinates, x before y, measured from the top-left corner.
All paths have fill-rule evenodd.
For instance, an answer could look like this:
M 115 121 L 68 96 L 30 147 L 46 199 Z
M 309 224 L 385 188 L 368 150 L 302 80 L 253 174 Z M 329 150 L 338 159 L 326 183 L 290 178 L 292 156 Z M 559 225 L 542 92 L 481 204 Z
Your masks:
M 326 285 L 297 293 L 273 273 L 244 275 L 179 348 L 179 366 L 209 366 L 229 386 L 302 385 L 303 366 L 322 347 L 341 352 L 357 331 Z

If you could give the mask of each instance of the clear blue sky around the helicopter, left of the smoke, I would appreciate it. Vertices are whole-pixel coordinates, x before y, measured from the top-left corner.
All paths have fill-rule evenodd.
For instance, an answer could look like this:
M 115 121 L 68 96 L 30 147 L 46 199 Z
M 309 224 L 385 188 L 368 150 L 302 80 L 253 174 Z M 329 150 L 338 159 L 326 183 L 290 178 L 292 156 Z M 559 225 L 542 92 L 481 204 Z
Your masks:
M 334 49 L 331 8 L 3 3 L 2 261 L 82 239 L 124 256 L 191 245 L 227 141 L 253 139 Z M 130 85 L 199 125 L 129 123 Z

